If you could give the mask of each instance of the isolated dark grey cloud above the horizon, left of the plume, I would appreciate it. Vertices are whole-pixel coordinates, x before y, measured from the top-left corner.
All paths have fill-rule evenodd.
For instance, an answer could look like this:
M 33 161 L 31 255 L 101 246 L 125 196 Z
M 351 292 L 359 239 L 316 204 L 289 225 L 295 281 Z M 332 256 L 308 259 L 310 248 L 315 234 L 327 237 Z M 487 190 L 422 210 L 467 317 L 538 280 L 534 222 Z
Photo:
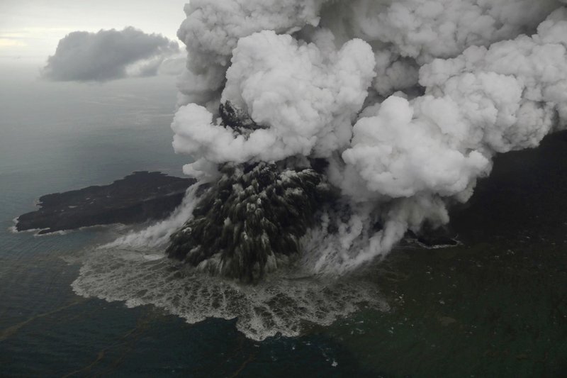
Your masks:
M 176 42 L 131 26 L 97 33 L 74 31 L 59 41 L 41 74 L 62 82 L 154 76 L 166 58 L 178 53 Z

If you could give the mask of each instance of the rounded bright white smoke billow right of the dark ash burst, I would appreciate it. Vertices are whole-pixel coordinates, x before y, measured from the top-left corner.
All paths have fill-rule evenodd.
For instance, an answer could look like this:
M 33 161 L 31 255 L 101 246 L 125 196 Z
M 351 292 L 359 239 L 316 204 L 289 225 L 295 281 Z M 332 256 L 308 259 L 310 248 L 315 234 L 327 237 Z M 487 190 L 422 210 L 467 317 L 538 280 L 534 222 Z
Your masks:
M 437 106 L 435 114 L 445 110 L 434 100 L 430 106 Z M 445 120 L 451 113 L 443 116 Z M 413 117 L 410 103 L 392 96 L 376 116 L 361 118 L 354 126 L 352 147 L 342 158 L 347 169 L 360 174 L 369 191 L 392 198 L 422 191 L 451 196 L 489 169 L 490 162 L 480 152 L 451 148 L 437 125 Z

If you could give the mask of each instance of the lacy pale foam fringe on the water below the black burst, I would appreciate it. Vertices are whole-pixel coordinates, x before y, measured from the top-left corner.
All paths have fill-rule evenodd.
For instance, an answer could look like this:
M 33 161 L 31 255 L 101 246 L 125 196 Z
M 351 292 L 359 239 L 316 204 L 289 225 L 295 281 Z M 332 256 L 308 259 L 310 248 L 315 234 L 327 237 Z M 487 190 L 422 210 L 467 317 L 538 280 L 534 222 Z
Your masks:
M 306 323 L 330 325 L 361 306 L 388 310 L 373 284 L 353 278 L 330 279 L 290 267 L 250 286 L 158 256 L 164 255 L 108 247 L 89 251 L 72 288 L 80 296 L 124 301 L 128 307 L 152 304 L 188 323 L 237 318 L 237 329 L 254 340 L 300 335 Z

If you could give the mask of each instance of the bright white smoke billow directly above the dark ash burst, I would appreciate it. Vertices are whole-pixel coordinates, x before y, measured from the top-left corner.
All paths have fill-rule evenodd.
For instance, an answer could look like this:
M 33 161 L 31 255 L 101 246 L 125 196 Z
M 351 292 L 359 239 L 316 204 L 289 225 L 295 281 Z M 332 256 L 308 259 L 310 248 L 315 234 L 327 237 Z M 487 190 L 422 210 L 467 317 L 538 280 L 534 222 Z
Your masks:
M 329 38 L 330 33 L 322 36 Z M 189 104 L 179 109 L 172 126 L 176 151 L 217 163 L 328 157 L 349 143 L 352 121 L 374 77 L 374 54 L 362 40 L 335 51 L 264 31 L 240 40 L 226 77 L 222 101 L 230 100 L 269 128 L 245 138 L 213 124 L 205 108 Z

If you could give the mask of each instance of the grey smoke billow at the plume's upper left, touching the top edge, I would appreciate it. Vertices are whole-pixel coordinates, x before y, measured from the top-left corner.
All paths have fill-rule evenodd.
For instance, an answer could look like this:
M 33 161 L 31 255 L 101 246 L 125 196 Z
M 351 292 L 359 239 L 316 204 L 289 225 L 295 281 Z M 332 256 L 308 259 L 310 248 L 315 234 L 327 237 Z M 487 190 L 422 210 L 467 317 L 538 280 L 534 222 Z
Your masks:
M 179 104 L 206 104 L 223 87 L 238 40 L 262 30 L 293 33 L 317 25 L 325 0 L 192 0 L 177 36 L 189 52 Z

